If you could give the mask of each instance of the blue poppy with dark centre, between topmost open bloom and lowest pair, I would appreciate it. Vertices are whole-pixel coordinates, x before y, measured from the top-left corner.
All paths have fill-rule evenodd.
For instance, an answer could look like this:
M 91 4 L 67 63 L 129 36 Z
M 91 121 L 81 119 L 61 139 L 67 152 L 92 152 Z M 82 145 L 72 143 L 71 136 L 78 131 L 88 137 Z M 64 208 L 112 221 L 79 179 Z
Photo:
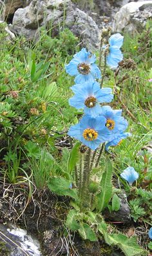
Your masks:
M 69 103 L 76 109 L 84 109 L 85 114 L 98 116 L 102 111 L 99 103 L 110 102 L 113 99 L 111 88 L 100 89 L 97 82 L 86 82 L 82 85 L 73 85 L 71 90 L 75 95 Z

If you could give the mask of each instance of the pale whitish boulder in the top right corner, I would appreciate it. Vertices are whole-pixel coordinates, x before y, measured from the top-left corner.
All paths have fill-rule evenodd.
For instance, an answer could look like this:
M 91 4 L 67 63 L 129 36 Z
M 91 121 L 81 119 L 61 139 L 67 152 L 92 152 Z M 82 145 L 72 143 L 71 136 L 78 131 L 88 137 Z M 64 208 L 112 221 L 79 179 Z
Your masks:
M 131 2 L 122 6 L 115 15 L 113 32 L 142 32 L 148 19 L 152 17 L 152 1 Z

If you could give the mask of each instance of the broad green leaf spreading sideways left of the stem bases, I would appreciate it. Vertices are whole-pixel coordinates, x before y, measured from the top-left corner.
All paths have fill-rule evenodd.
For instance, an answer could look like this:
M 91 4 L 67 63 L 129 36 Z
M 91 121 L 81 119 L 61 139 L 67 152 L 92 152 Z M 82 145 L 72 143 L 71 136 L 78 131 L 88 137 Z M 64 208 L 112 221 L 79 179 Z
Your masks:
M 57 195 L 65 195 L 77 200 L 77 191 L 76 189 L 70 189 L 71 182 L 62 177 L 52 177 L 50 178 L 50 182 L 48 184 L 48 188 L 57 193 Z

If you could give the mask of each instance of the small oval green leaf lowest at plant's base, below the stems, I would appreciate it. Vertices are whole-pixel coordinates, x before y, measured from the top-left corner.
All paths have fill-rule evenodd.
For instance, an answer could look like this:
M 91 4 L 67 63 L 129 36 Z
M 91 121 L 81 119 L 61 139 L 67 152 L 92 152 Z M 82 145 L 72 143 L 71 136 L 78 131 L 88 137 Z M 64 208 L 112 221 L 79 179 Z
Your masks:
M 84 240 L 88 239 L 91 242 L 96 242 L 98 240 L 93 229 L 86 223 L 82 223 L 81 228 L 79 228 L 78 231 Z

